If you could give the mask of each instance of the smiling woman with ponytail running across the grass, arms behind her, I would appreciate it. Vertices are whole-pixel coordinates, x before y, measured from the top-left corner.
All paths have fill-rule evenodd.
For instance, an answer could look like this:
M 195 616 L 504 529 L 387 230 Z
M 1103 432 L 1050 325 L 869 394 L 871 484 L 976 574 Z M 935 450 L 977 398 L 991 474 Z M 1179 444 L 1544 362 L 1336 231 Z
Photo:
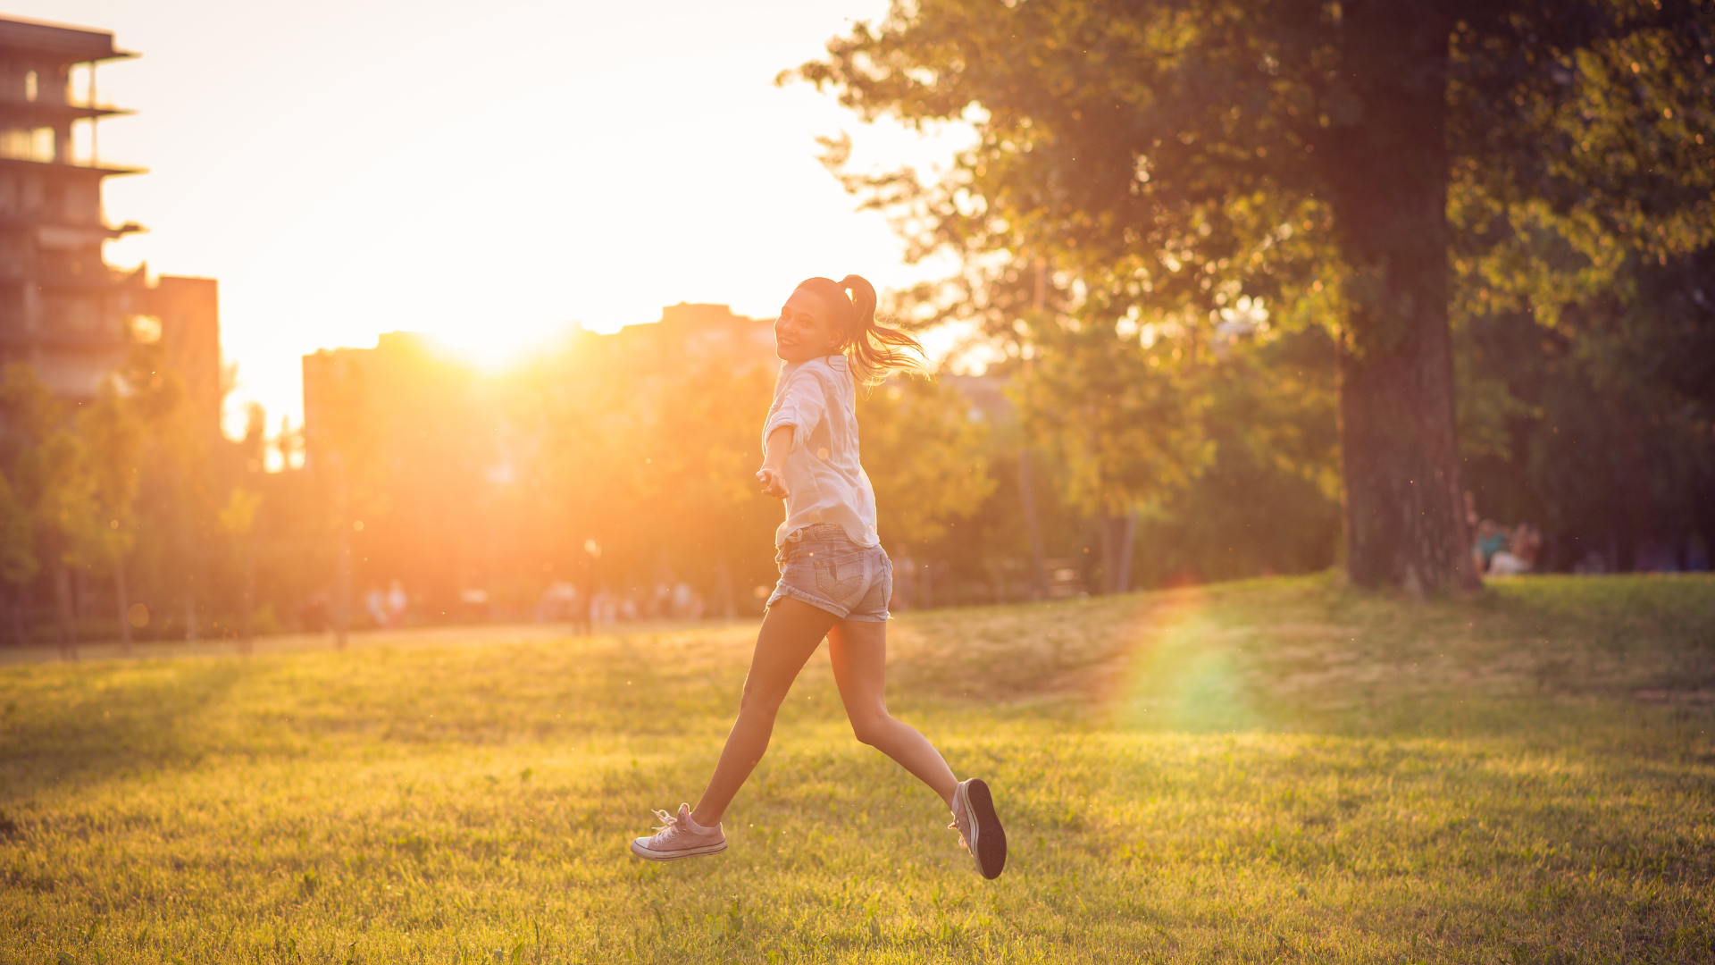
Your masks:
M 847 295 L 849 292 L 849 295 Z M 720 819 L 768 749 L 775 713 L 823 637 L 833 680 L 858 740 L 911 771 L 952 810 L 950 828 L 984 877 L 1007 864 L 1007 833 L 988 785 L 960 781 L 911 725 L 887 713 L 887 599 L 892 563 L 875 531 L 875 491 L 858 462 L 858 383 L 875 385 L 888 369 L 914 367 L 923 345 L 875 323 L 875 288 L 858 275 L 811 278 L 792 292 L 773 323 L 784 362 L 763 422 L 756 481 L 785 500 L 775 531 L 780 580 L 756 634 L 739 718 L 727 735 L 696 809 L 657 810 L 653 836 L 631 841 L 650 860 L 712 855 L 727 848 Z

